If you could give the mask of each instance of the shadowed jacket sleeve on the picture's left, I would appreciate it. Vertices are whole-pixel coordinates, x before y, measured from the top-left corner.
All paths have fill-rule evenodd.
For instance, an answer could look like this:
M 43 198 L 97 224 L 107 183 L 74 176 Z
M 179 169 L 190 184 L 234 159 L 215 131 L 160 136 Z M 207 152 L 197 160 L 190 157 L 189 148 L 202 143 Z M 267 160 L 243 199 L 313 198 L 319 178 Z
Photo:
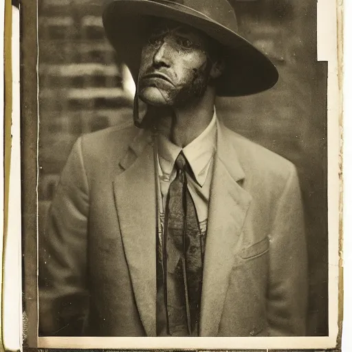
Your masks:
M 87 311 L 89 187 L 81 143 L 72 148 L 39 234 L 41 336 L 80 336 Z

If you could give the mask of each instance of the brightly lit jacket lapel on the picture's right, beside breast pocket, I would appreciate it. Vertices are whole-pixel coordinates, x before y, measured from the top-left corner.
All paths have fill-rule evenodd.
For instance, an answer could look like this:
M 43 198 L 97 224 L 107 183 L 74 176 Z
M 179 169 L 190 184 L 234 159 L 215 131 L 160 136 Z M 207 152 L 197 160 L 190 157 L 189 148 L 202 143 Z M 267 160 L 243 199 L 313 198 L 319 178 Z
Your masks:
M 217 336 L 236 244 L 252 199 L 239 184 L 245 175 L 233 144 L 233 133 L 219 123 L 208 210 L 201 294 L 201 336 Z

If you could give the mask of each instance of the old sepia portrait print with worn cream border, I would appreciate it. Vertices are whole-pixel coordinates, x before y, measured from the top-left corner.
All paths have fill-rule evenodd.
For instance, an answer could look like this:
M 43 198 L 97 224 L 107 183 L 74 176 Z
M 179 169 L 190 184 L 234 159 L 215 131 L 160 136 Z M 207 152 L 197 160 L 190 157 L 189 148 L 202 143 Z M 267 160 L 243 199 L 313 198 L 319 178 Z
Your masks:
M 333 1 L 28 1 L 22 25 L 25 346 L 334 347 Z

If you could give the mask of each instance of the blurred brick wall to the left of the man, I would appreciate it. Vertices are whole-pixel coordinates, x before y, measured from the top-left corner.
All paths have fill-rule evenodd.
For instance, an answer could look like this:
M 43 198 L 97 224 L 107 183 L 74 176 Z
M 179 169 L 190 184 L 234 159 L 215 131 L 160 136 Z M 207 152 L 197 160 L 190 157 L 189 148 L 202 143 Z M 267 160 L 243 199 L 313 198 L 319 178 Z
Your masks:
M 77 137 L 117 124 L 131 111 L 101 11 L 96 1 L 39 2 L 40 219 Z

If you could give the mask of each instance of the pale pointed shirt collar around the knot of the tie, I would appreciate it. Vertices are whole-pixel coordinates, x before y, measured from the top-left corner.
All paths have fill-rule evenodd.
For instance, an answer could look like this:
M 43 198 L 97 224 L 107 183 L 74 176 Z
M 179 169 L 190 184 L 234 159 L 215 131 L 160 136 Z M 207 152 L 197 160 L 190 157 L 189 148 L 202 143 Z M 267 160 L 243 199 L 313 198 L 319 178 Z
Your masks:
M 210 124 L 206 129 L 197 137 L 192 140 L 190 144 L 185 146 L 183 149 L 173 142 L 170 142 L 164 135 L 159 135 L 158 139 L 158 154 L 159 154 L 159 166 L 162 173 L 162 177 L 169 179 L 173 172 L 175 160 L 181 151 L 192 168 L 192 172 L 195 175 L 195 181 L 200 186 L 206 182 L 210 163 L 212 161 L 212 155 L 217 144 L 217 113 L 214 109 L 214 115 Z

